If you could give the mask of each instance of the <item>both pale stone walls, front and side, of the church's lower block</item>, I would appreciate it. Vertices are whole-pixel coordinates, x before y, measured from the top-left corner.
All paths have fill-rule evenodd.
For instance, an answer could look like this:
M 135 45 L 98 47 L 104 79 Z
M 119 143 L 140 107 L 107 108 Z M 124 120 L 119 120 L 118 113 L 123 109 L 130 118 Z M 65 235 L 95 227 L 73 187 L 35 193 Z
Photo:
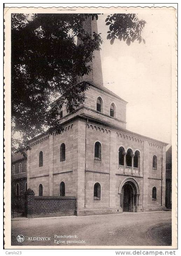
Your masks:
M 101 161 L 94 159 L 94 145 L 102 145 Z M 60 145 L 65 143 L 65 161 L 60 162 Z M 118 165 L 119 147 L 125 151 L 140 152 L 140 173 L 123 173 Z M 39 167 L 39 152 L 43 151 L 43 166 Z M 157 170 L 152 168 L 153 155 L 157 156 Z M 76 197 L 77 209 L 120 208 L 120 183 L 132 176 L 139 186 L 138 207 L 161 206 L 161 157 L 162 165 L 162 206 L 165 205 L 165 153 L 161 146 L 129 132 L 108 129 L 104 125 L 87 123 L 82 120 L 67 125 L 60 135 L 43 137 L 34 142 L 28 152 L 28 188 L 39 194 L 43 185 L 43 196 L 58 196 L 60 183 L 65 183 L 65 196 Z M 93 185 L 101 185 L 101 200 L 93 200 Z M 157 200 L 152 201 L 152 188 L 157 188 Z

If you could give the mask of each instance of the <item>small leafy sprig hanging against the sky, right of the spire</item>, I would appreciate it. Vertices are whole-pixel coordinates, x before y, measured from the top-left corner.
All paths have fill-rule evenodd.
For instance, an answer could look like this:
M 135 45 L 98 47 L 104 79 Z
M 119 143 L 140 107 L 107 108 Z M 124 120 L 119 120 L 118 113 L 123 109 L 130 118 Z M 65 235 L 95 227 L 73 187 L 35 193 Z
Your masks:
M 145 40 L 141 37 L 141 32 L 146 24 L 144 20 L 138 20 L 138 17 L 135 14 L 111 14 L 108 15 L 106 20 L 106 25 L 109 25 L 109 30 L 107 33 L 107 39 L 110 40 L 112 45 L 115 39 L 120 41 L 126 41 L 126 44 L 129 46 L 131 42 L 134 42 L 135 39 L 139 43 Z

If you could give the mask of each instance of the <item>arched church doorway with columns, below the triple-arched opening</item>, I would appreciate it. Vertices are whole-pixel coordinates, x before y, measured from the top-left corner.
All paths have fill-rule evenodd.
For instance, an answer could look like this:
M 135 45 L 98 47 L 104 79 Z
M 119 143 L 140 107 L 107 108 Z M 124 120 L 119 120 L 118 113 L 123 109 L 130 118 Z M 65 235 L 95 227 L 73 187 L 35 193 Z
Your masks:
M 120 186 L 120 206 L 123 211 L 136 212 L 139 204 L 139 186 L 137 181 L 132 177 L 125 178 Z

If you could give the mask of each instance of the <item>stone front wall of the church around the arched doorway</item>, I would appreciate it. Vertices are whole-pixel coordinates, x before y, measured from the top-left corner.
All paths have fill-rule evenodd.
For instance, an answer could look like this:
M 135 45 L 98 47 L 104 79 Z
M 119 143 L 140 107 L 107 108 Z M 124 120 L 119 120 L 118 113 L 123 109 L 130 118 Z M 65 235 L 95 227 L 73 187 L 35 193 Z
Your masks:
M 143 206 L 145 208 L 161 206 L 160 161 L 162 149 L 160 145 L 150 149 L 149 143 L 139 137 L 135 137 L 126 133 L 118 133 L 113 129 L 108 130 L 104 126 L 93 125 L 83 121 L 79 121 L 79 127 L 79 130 L 81 131 L 79 133 L 80 161 L 78 170 L 79 189 L 77 197 L 77 204 L 79 205 L 79 209 L 119 208 L 119 185 L 128 176 L 134 177 L 138 183 L 140 192 L 138 208 L 140 208 L 140 211 L 142 210 Z M 99 141 L 102 145 L 101 161 L 94 159 L 94 145 L 96 141 Z M 135 153 L 136 150 L 139 150 L 139 175 L 135 173 L 131 175 L 131 173 L 123 173 L 120 171 L 118 165 L 118 152 L 120 146 L 123 146 L 125 151 L 127 151 L 129 148 L 132 149 L 133 153 Z M 84 154 L 86 155 L 86 160 Z M 152 168 L 153 155 L 156 155 L 158 158 L 158 168 L 156 175 Z M 162 206 L 164 206 L 164 168 L 163 157 Z M 100 201 L 93 200 L 93 185 L 96 182 L 99 182 L 101 185 Z M 157 188 L 156 201 L 152 201 L 153 185 Z

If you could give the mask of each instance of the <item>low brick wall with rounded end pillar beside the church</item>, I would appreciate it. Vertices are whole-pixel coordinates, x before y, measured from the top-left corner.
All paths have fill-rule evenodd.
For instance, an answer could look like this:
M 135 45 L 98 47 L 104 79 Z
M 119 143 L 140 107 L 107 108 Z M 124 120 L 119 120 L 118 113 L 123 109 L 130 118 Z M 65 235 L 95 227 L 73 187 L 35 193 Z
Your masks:
M 75 215 L 75 197 L 34 196 L 33 190 L 30 189 L 25 195 L 27 217 Z

